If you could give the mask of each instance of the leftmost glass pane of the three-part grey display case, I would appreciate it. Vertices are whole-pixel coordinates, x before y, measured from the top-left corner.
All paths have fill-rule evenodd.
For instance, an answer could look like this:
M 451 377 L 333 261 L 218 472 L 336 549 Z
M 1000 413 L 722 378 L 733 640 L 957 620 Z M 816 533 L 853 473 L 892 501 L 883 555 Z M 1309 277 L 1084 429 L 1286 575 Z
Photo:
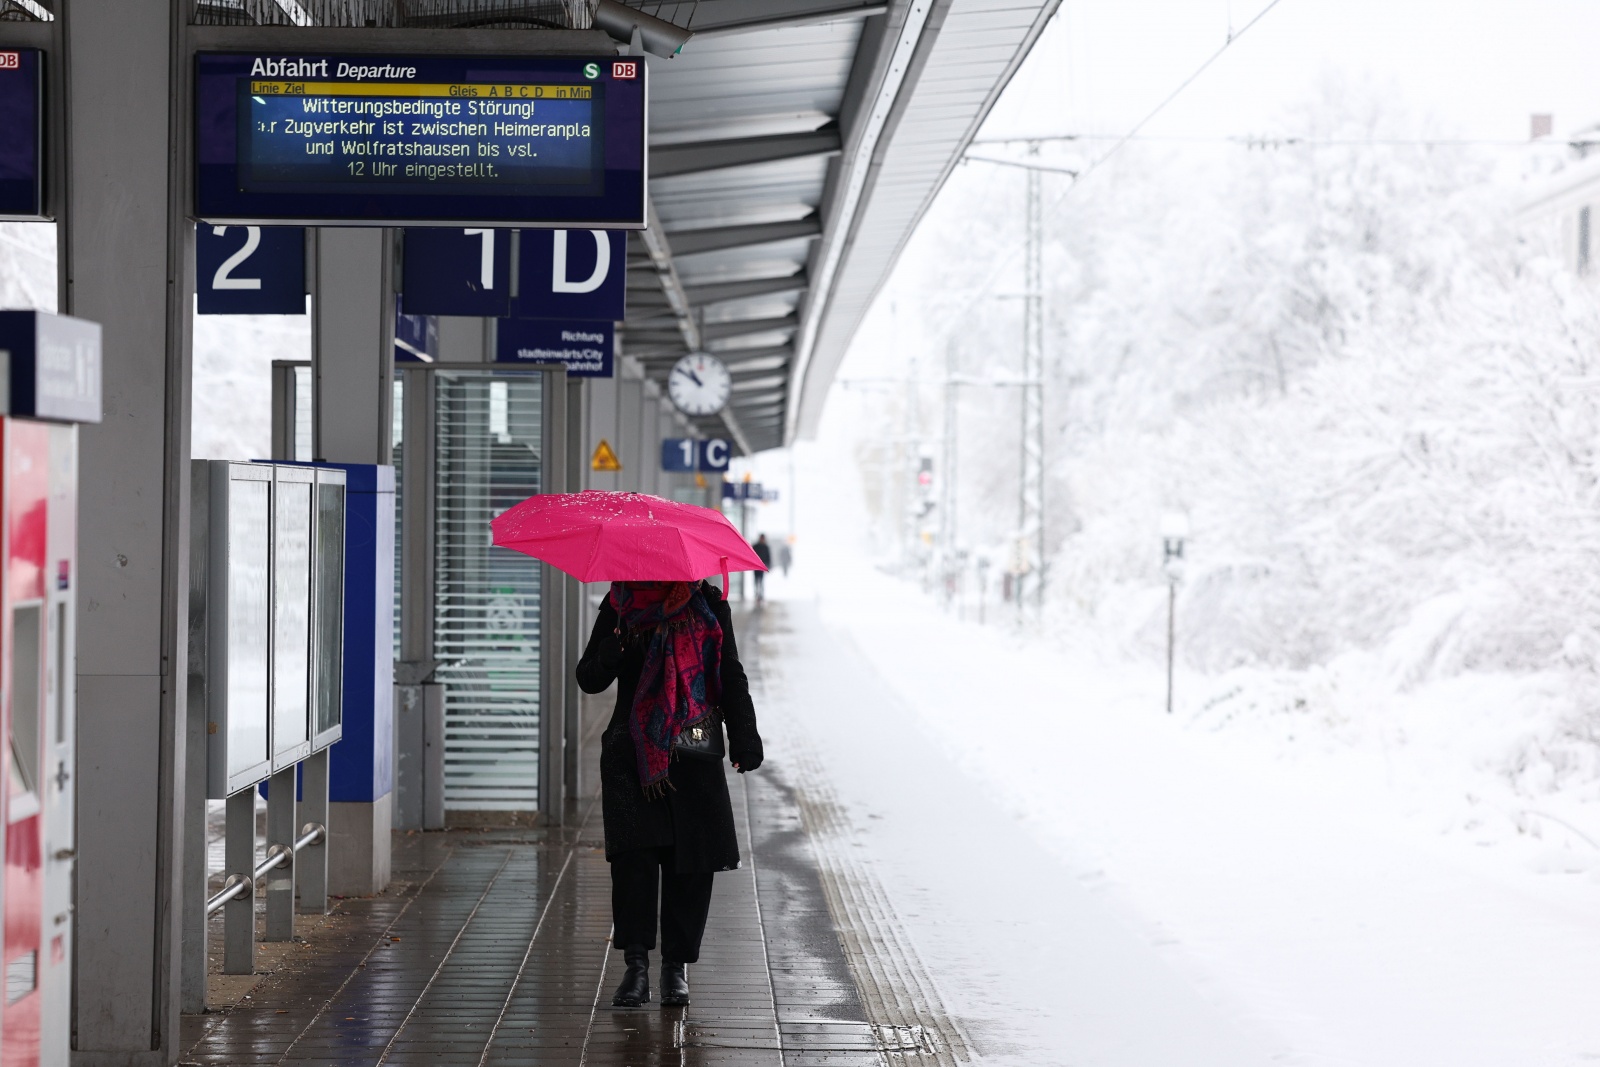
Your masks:
M 227 774 L 267 758 L 270 483 L 227 483 Z

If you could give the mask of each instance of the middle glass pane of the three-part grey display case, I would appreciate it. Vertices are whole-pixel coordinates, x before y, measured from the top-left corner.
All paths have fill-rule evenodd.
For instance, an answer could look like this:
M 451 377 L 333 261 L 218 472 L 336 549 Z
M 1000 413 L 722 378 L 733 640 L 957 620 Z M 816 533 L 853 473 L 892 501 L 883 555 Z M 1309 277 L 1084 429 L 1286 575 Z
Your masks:
M 278 482 L 272 555 L 272 752 L 310 739 L 310 483 Z

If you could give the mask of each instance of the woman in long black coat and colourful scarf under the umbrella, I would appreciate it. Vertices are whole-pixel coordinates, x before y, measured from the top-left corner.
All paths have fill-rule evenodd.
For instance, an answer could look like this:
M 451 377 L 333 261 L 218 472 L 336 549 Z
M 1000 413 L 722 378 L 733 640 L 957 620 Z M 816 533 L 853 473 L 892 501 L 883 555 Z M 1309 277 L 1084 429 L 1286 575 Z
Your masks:
M 666 590 L 666 613 L 658 625 L 638 624 L 630 592 L 659 595 Z M 674 603 L 685 603 L 674 609 Z M 618 605 L 622 611 L 618 611 Z M 634 617 L 635 625 L 626 619 Z M 646 619 L 656 616 L 643 616 Z M 682 635 L 686 619 L 698 632 L 710 633 L 715 617 L 720 627 L 720 656 L 715 641 L 706 645 L 704 659 L 720 659 L 720 712 L 728 729 L 728 758 L 741 774 L 762 765 L 762 737 L 755 729 L 755 705 L 750 686 L 739 664 L 739 648 L 733 637 L 733 616 L 722 593 L 710 582 L 694 585 L 667 582 L 627 582 L 613 585 L 600 606 L 589 646 L 578 662 L 578 685 L 584 693 L 602 693 L 616 681 L 616 707 L 600 737 L 600 806 L 605 814 L 605 854 L 611 861 L 613 944 L 624 952 L 627 974 L 611 1003 L 634 1008 L 650 1001 L 650 950 L 656 947 L 656 893 L 661 893 L 661 1003 L 688 1003 L 686 965 L 699 960 L 701 937 L 710 910 L 712 875 L 739 865 L 739 843 L 733 829 L 733 805 L 722 761 L 690 757 L 666 758 L 659 752 L 640 758 L 635 734 L 640 731 L 635 694 L 646 665 L 646 653 L 658 649 L 651 661 L 651 685 L 659 686 L 662 641 Z M 707 638 L 709 640 L 709 638 Z M 686 656 L 678 646 L 678 659 Z M 699 646 L 693 646 L 699 653 Z M 717 665 L 717 664 L 712 664 Z M 710 669 L 707 667 L 707 673 Z M 717 680 L 706 680 L 707 693 L 698 699 L 717 699 Z M 669 701 L 670 702 L 670 701 Z M 662 737 L 675 736 L 656 728 Z M 646 747 L 654 742 L 646 741 Z M 645 782 L 651 773 L 662 779 Z

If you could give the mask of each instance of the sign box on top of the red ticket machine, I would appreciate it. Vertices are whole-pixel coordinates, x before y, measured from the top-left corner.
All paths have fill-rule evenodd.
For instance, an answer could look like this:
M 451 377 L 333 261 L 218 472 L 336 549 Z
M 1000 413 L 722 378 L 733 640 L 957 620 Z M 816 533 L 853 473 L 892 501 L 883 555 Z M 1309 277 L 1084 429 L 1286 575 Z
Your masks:
M 0 312 L 0 414 L 101 421 L 99 323 L 50 312 Z

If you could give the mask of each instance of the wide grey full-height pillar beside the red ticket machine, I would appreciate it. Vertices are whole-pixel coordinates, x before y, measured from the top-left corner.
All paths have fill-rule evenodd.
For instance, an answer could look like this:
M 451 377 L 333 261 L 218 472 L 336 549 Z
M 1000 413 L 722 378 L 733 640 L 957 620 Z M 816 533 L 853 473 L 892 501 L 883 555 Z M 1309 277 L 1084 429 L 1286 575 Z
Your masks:
M 74 1062 L 178 1056 L 194 227 L 187 6 L 58 5 L 62 312 L 104 326 L 82 430 Z

